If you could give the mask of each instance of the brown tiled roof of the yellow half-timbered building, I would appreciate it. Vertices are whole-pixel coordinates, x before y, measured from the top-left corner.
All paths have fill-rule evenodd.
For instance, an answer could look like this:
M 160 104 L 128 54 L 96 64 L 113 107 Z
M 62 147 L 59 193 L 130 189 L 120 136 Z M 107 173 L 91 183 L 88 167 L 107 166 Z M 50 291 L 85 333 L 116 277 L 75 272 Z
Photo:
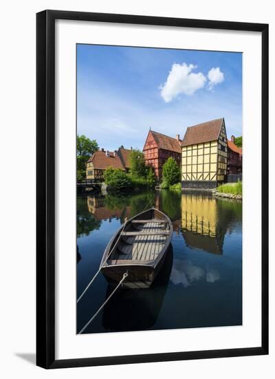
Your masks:
M 181 146 L 216 141 L 219 138 L 222 123 L 223 119 L 216 119 L 188 127 Z

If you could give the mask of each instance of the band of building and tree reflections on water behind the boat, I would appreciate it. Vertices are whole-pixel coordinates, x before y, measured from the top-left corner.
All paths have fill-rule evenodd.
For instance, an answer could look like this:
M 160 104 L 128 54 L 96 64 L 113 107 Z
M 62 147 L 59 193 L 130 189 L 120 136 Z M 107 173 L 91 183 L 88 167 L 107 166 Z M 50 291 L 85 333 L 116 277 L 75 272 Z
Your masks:
M 83 201 L 85 203 L 86 200 Z M 85 217 L 85 230 L 82 225 L 83 216 L 80 218 L 78 236 L 98 229 L 101 221 L 111 222 L 115 218 L 124 223 L 125 217 L 130 218 L 148 207 L 155 207 L 168 214 L 174 232 L 177 236 L 181 233 L 191 249 L 223 254 L 225 233 L 230 232 L 230 224 L 236 219 L 236 214 L 239 214 L 241 204 L 217 200 L 206 193 L 181 194 L 165 190 L 122 196 L 96 194 L 87 196 L 86 209 L 92 216 Z

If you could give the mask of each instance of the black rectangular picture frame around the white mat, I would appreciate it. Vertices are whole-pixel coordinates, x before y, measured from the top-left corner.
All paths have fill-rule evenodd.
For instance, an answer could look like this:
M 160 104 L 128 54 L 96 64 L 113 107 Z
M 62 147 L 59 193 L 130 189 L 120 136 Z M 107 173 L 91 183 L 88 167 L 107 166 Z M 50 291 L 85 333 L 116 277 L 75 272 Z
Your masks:
M 55 358 L 55 21 L 108 23 L 239 30 L 262 34 L 262 341 L 259 347 L 177 351 L 165 354 Z M 168 360 L 225 358 L 268 354 L 268 25 L 45 10 L 36 14 L 36 365 L 45 369 L 95 365 L 121 365 Z

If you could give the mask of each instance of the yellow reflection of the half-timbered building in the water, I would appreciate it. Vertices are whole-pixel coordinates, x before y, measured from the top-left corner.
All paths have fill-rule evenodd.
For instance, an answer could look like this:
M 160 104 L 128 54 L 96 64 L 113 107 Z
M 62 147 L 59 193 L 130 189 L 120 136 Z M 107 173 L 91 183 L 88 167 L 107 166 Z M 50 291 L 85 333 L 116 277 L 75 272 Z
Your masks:
M 182 195 L 181 232 L 188 247 L 223 254 L 226 227 L 221 225 L 216 198 Z

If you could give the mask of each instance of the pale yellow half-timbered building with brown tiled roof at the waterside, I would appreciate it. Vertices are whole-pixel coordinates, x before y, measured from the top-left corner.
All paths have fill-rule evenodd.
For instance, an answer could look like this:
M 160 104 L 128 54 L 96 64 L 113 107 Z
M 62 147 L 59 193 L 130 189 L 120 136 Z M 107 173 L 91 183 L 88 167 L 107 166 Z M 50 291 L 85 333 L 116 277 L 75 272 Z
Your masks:
M 182 188 L 214 188 L 225 181 L 228 140 L 224 119 L 188 127 L 181 149 Z

